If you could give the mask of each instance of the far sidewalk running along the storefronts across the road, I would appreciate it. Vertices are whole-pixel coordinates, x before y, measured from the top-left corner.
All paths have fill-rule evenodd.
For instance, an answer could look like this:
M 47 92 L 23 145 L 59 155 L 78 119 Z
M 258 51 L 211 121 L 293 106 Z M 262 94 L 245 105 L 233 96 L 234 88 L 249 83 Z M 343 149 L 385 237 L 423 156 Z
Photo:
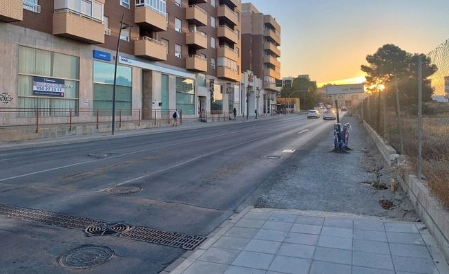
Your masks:
M 265 116 L 260 117 L 260 120 L 271 119 L 278 116 Z M 249 117 L 248 121 L 253 121 L 253 117 Z M 94 133 L 94 134 L 83 134 L 83 135 L 71 135 L 71 136 L 61 136 L 56 138 L 44 138 L 44 139 L 35 139 L 35 140 L 21 140 L 15 142 L 0 142 L 0 152 L 7 151 L 10 149 L 22 149 L 28 147 L 48 147 L 52 145 L 64 145 L 64 144 L 72 144 L 72 143 L 83 143 L 90 142 L 94 140 L 108 140 L 113 138 L 125 138 L 129 136 L 140 136 L 140 135 L 149 135 L 149 134 L 157 134 L 161 132 L 171 132 L 178 131 L 182 129 L 200 129 L 203 127 L 215 127 L 219 125 L 227 125 L 231 122 L 246 122 L 246 118 L 238 117 L 236 121 L 225 121 L 225 122 L 200 122 L 200 121 L 188 121 L 183 122 L 178 125 L 178 127 L 151 127 L 149 129 L 135 129 L 135 130 L 124 130 L 124 131 L 115 131 L 115 135 L 111 135 L 111 132 L 108 133 Z M 225 124 L 226 123 L 226 124 Z

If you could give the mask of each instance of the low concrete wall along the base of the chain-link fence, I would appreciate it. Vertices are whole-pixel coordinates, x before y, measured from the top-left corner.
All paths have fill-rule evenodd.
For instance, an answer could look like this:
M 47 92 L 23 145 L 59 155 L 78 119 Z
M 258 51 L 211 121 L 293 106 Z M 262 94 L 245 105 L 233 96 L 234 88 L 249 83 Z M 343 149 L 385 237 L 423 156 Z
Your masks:
M 372 140 L 374 140 L 374 143 L 376 143 L 385 161 L 388 165 L 392 165 L 390 155 L 396 154 L 396 150 L 390 145 L 387 145 L 381 136 L 365 120 L 363 120 L 363 125 Z M 412 174 L 412 170 L 405 168 L 404 174 L 399 175 L 397 177 L 399 178 L 402 189 L 407 193 L 419 218 L 426 223 L 430 233 L 437 240 L 447 261 L 449 259 L 449 213 L 440 206 L 437 199 L 432 197 L 428 188 L 417 179 L 417 176 Z

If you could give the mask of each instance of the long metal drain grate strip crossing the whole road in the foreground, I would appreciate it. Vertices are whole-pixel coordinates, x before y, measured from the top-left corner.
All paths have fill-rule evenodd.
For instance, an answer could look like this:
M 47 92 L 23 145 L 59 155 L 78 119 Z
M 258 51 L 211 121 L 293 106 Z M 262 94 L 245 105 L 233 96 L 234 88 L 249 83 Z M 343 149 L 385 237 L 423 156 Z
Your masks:
M 186 250 L 193 250 L 207 237 L 188 235 L 178 232 L 155 230 L 126 223 L 108 223 L 107 221 L 70 216 L 55 212 L 19 208 L 0 204 L 0 214 L 26 221 L 37 221 L 63 228 L 84 230 L 88 235 L 117 235 L 125 239 L 162 244 Z

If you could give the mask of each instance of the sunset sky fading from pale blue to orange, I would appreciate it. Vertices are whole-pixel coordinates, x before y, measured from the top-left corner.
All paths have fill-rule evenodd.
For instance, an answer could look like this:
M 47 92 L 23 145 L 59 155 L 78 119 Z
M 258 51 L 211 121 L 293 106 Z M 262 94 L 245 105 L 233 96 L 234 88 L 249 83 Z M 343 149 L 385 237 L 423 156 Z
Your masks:
M 363 82 L 366 55 L 384 44 L 427 54 L 449 38 L 449 0 L 250 2 L 280 24 L 282 77 L 309 74 L 318 86 Z

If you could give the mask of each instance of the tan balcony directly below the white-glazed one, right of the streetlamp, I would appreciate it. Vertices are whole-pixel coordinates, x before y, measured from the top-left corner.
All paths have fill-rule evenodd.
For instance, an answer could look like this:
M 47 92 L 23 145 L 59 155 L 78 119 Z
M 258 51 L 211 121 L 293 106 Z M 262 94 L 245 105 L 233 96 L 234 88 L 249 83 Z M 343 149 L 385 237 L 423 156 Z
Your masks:
M 166 61 L 166 44 L 150 37 L 139 37 L 134 42 L 134 55 L 156 61 Z

